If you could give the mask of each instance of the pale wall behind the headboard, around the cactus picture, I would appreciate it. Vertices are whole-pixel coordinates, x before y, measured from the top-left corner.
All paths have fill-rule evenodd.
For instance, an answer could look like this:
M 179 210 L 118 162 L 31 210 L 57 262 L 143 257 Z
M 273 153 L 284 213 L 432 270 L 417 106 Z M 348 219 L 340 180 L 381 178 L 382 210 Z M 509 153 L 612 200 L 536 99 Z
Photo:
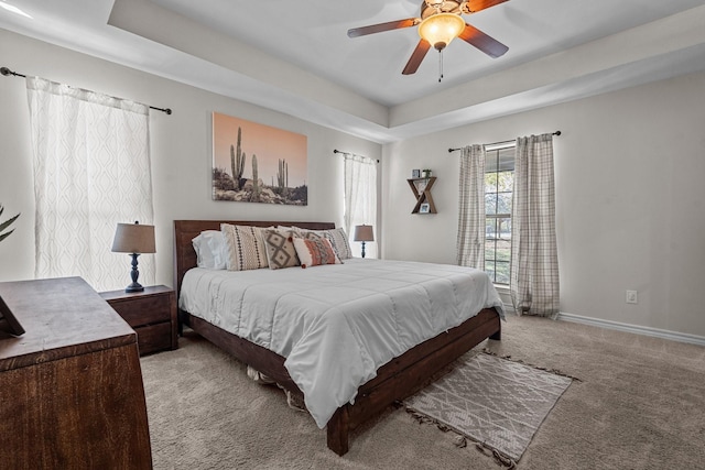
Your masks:
M 0 66 L 18 73 L 173 109 L 172 116 L 153 111 L 150 118 L 159 284 L 172 285 L 174 219 L 321 220 L 339 225 L 343 159 L 333 150 L 381 157 L 379 144 L 4 30 L 0 30 Z M 0 204 L 6 206 L 1 220 L 22 212 L 13 225 L 15 232 L 0 243 L 0 281 L 33 278 L 34 196 L 24 80 L 0 77 Z M 213 111 L 306 135 L 308 206 L 212 200 Z M 128 273 L 126 258 L 126 283 Z

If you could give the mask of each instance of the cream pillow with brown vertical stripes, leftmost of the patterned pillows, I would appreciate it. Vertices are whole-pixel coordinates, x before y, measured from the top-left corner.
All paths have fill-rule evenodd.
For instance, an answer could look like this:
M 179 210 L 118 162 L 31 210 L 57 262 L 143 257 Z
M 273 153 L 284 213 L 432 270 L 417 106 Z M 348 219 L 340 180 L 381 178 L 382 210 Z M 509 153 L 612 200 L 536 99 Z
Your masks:
M 267 267 L 267 250 L 259 227 L 220 223 L 220 231 L 228 247 L 228 271 L 259 270 Z

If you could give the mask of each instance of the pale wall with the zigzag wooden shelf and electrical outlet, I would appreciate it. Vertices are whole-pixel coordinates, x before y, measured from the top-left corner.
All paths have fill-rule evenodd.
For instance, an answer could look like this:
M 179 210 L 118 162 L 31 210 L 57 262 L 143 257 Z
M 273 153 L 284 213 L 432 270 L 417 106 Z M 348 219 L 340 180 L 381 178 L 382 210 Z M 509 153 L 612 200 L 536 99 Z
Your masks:
M 561 310 L 705 336 L 705 73 L 386 145 L 383 250 L 455 262 L 458 152 L 554 138 Z M 430 167 L 437 215 L 411 215 L 405 178 Z M 625 291 L 639 292 L 627 305 Z

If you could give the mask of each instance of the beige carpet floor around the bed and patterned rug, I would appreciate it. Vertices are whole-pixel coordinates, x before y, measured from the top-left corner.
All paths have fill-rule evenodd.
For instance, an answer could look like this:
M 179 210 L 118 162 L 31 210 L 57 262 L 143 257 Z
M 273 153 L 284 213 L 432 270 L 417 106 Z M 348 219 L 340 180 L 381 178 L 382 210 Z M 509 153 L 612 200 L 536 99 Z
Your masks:
M 705 462 L 705 348 L 533 317 L 509 317 L 498 356 L 577 376 L 519 469 L 696 469 Z M 142 359 L 155 469 L 498 469 L 453 433 L 389 409 L 350 451 L 245 365 L 187 336 Z

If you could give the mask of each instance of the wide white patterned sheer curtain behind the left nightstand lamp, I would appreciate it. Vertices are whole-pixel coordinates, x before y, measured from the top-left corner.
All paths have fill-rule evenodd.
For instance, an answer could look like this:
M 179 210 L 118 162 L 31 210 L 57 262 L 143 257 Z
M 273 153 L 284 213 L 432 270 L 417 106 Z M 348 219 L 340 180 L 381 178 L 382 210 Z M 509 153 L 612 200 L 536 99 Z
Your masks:
M 97 291 L 130 283 L 112 253 L 118 222 L 153 223 L 149 108 L 26 78 L 36 198 L 35 276 L 80 276 Z M 140 283 L 154 283 L 153 255 Z

